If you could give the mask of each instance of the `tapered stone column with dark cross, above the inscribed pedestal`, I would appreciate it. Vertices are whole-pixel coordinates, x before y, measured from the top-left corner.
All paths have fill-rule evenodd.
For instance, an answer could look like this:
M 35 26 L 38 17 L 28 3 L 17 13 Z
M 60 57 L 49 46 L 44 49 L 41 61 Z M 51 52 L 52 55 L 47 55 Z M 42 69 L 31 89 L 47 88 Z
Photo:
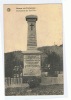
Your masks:
M 36 50 L 37 49 L 37 40 L 36 40 L 37 16 L 34 15 L 26 16 L 26 21 L 28 22 L 27 50 Z

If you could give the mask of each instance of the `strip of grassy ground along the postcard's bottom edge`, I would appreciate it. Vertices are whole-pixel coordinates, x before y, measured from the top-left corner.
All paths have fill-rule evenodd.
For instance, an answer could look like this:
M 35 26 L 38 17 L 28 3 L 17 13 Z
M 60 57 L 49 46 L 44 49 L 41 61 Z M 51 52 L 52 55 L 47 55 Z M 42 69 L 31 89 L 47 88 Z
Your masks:
M 36 88 L 7 88 L 5 89 L 6 96 L 21 96 L 21 95 L 63 95 L 63 85 L 40 85 Z

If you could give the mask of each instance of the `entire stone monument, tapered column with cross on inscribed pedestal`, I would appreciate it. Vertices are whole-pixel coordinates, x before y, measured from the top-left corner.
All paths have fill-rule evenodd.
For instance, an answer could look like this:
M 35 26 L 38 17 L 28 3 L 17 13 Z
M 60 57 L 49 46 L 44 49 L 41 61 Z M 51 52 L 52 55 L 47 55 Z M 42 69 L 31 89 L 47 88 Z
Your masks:
M 37 50 L 36 21 L 37 16 L 26 16 L 28 23 L 27 51 L 24 55 L 23 77 L 41 77 L 41 52 Z

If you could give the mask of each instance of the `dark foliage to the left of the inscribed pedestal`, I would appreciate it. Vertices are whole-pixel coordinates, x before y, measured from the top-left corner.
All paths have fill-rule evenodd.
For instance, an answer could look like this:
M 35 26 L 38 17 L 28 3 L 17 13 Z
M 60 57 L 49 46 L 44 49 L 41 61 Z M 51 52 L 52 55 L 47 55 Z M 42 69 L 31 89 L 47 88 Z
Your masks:
M 20 71 L 20 66 L 23 67 L 23 61 L 19 57 L 17 57 L 19 54 L 19 57 L 22 58 L 21 52 L 10 52 L 5 54 L 5 77 L 13 77 L 15 72 L 15 66 L 19 67 L 19 72 Z M 22 58 L 23 59 L 23 58 Z

